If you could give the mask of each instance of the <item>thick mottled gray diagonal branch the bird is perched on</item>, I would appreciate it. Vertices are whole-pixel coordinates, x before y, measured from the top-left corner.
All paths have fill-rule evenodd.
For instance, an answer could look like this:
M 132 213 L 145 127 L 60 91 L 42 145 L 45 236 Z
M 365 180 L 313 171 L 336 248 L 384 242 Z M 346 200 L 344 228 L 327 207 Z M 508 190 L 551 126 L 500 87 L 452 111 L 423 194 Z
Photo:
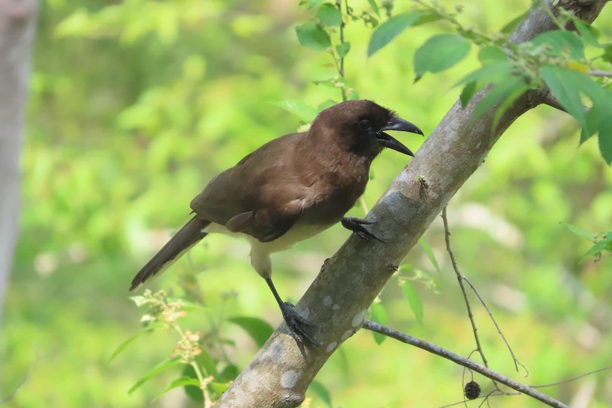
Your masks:
M 605 4 L 579 0 L 561 3 L 589 22 Z M 512 40 L 528 41 L 554 28 L 546 13 L 532 9 Z M 491 132 L 493 111 L 472 124 L 474 108 L 485 92 L 475 95 L 465 109 L 458 101 L 450 108 L 371 210 L 368 218 L 378 220 L 376 234 L 386 243 L 351 236 L 325 262 L 296 305 L 300 314 L 317 325 L 317 339 L 323 346 L 300 350 L 282 324 L 222 395 L 218 408 L 299 406 L 313 377 L 338 346 L 359 330 L 368 306 L 398 264 L 480 166 L 499 136 L 529 109 L 550 103 L 545 90 L 526 92 Z

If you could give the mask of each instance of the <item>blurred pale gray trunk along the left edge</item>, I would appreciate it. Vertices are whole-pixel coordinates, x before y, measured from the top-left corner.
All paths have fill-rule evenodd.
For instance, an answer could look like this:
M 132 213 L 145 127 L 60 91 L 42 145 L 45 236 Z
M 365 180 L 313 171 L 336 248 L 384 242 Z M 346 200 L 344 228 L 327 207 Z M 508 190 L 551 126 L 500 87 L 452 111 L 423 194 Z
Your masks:
M 19 154 L 37 2 L 0 0 L 0 318 L 17 243 Z

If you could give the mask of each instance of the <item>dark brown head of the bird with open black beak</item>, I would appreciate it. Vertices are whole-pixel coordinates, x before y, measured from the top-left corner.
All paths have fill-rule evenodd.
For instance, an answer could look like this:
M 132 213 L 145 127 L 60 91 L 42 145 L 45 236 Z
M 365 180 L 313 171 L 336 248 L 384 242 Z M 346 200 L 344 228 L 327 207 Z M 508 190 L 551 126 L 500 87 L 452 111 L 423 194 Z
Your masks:
M 414 156 L 408 147 L 385 133 L 386 130 L 423 132 L 397 113 L 369 100 L 349 100 L 321 111 L 312 124 L 312 130 L 328 139 L 334 139 L 352 152 L 375 157 L 384 147 Z

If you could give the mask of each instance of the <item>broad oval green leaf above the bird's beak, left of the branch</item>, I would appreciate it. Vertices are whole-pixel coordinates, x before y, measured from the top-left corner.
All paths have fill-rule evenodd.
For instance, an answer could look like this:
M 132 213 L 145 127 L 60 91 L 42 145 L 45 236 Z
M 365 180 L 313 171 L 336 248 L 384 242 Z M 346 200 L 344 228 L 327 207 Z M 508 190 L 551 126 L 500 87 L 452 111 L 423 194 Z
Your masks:
M 414 53 L 416 80 L 425 72 L 436 73 L 449 69 L 468 54 L 469 48 L 468 40 L 461 35 L 434 35 Z

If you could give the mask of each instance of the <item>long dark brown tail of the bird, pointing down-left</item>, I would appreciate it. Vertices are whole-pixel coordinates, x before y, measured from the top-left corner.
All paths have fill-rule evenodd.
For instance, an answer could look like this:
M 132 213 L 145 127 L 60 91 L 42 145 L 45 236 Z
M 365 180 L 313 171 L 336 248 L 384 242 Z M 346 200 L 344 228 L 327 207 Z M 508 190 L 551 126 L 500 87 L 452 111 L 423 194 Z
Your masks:
M 140 272 L 136 273 L 136 276 L 134 276 L 132 280 L 130 291 L 133 291 L 136 287 L 145 283 L 153 276 L 161 275 L 170 265 L 177 261 L 177 259 L 181 258 L 182 254 L 190 250 L 193 245 L 206 237 L 207 232 L 202 232 L 202 230 L 210 223 L 211 221 L 200 220 L 197 217 L 193 217 L 183 228 L 179 229 L 179 232 L 177 232 L 157 254 L 155 254 L 151 261 L 143 266 Z

